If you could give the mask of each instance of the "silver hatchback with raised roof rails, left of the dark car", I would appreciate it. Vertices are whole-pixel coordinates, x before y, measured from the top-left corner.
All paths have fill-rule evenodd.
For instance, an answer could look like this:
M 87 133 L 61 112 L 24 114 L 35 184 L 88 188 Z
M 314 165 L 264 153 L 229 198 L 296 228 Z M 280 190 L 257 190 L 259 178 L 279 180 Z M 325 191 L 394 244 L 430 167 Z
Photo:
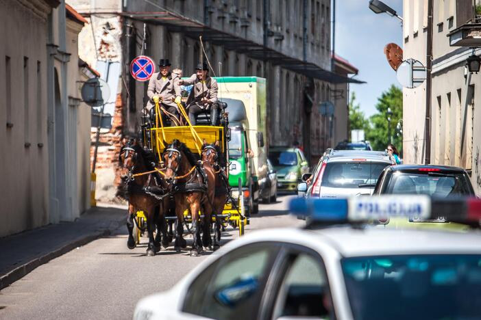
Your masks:
M 308 198 L 371 195 L 382 170 L 394 164 L 384 151 L 328 149 L 312 174 L 304 174 L 297 191 Z

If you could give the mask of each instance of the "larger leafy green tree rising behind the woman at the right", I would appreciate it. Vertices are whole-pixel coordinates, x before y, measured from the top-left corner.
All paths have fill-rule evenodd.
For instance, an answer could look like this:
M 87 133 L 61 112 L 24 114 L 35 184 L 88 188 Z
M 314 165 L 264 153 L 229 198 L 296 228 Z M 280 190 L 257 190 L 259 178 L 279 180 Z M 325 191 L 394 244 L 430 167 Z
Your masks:
M 370 130 L 366 131 L 366 139 L 369 140 L 373 150 L 384 150 L 389 143 L 389 135 L 397 150 L 402 149 L 402 133 L 396 129 L 399 119 L 402 119 L 402 90 L 391 85 L 387 91 L 382 92 L 375 106 L 378 113 L 369 118 Z M 392 115 L 388 116 L 388 108 Z M 391 121 L 388 121 L 391 118 Z

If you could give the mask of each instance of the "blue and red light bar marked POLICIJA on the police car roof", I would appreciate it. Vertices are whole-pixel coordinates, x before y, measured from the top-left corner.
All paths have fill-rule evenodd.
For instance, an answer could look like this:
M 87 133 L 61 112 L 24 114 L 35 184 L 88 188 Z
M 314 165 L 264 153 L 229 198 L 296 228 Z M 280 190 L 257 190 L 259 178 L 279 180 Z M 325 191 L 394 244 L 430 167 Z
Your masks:
M 312 223 L 356 223 L 373 219 L 406 217 L 436 219 L 479 226 L 481 200 L 478 198 L 430 198 L 427 195 L 359 196 L 353 198 L 296 198 L 290 203 L 294 215 Z

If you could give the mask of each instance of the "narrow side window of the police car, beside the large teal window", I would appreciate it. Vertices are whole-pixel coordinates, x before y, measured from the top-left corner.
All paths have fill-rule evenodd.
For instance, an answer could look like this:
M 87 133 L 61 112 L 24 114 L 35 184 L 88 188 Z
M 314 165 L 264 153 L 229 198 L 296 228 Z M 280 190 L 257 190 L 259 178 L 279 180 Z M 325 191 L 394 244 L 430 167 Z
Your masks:
M 332 319 L 334 311 L 320 258 L 307 253 L 290 257 L 284 280 L 277 290 L 273 319 L 316 317 Z M 303 318 L 304 319 L 304 318 Z

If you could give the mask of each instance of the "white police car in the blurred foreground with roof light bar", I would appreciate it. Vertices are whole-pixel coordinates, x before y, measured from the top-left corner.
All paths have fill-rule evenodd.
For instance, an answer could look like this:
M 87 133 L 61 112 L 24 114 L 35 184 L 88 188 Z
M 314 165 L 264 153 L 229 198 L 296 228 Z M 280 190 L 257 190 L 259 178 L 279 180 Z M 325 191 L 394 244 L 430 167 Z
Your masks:
M 308 228 L 252 232 L 138 302 L 134 319 L 481 319 L 481 233 L 367 226 L 443 215 L 479 227 L 481 201 L 374 196 L 291 202 Z

